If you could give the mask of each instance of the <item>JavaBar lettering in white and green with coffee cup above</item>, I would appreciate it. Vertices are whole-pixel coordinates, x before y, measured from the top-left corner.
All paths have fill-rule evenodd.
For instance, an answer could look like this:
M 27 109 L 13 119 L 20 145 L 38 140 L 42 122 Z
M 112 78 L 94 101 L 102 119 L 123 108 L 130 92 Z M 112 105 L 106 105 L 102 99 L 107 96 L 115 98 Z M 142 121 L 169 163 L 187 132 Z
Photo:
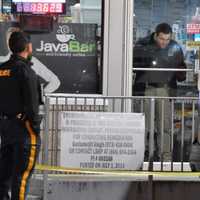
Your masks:
M 80 25 L 79 25 L 80 26 Z M 79 33 L 81 34 L 81 32 Z M 45 53 L 95 53 L 96 43 L 95 40 L 91 42 L 80 42 L 68 25 L 58 26 L 56 32 L 56 39 L 59 42 L 46 42 L 40 41 L 40 47 L 36 49 L 37 52 Z M 95 39 L 95 38 L 94 38 Z

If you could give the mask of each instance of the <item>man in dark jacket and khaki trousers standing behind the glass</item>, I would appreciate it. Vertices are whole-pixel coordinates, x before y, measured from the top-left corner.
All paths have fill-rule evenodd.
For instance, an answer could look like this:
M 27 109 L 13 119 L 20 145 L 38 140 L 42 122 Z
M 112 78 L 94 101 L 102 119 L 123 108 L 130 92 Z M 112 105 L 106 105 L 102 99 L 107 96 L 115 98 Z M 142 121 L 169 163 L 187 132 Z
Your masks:
M 184 56 L 180 45 L 172 40 L 172 28 L 169 24 L 159 24 L 155 32 L 139 40 L 134 47 L 133 52 L 134 68 L 178 68 L 185 69 Z M 133 86 L 133 95 L 137 96 L 175 96 L 177 81 L 184 81 L 186 73 L 184 71 L 136 71 L 135 84 Z M 155 129 L 160 137 L 162 104 L 158 101 L 155 107 L 156 124 Z M 170 151 L 170 103 L 164 104 L 164 152 Z M 145 103 L 146 115 L 146 134 L 150 130 L 150 103 Z M 167 142 L 168 141 L 168 142 Z M 160 153 L 160 139 L 159 153 Z M 168 158 L 166 158 L 168 160 Z

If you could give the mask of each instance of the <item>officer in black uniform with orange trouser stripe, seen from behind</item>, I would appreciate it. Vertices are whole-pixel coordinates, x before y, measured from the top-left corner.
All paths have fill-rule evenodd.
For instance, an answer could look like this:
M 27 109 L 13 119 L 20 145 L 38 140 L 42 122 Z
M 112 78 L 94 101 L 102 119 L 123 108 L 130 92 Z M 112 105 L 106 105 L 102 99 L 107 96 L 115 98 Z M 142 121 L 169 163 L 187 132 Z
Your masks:
M 0 66 L 0 199 L 24 200 L 40 147 L 40 92 L 31 69 L 30 36 L 13 32 L 10 59 Z

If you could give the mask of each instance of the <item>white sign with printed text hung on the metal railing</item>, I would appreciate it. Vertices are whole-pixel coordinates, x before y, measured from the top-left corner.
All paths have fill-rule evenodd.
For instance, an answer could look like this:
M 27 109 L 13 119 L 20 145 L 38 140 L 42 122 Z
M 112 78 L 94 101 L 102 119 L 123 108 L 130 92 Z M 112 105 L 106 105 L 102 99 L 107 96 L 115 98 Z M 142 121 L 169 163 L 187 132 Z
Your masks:
M 61 166 L 136 170 L 143 163 L 142 113 L 61 112 Z

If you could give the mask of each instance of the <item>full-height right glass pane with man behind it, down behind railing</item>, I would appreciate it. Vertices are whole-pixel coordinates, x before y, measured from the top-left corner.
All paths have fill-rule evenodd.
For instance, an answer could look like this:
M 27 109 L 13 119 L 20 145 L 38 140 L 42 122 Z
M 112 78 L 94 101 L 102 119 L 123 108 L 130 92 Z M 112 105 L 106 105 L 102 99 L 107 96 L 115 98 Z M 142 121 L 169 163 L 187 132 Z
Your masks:
M 200 1 L 135 0 L 134 6 L 133 95 L 155 97 L 155 107 L 145 98 L 135 101 L 134 109 L 145 113 L 147 141 L 154 128 L 154 159 L 188 162 L 199 105 L 191 98 L 170 97 L 198 96 Z

